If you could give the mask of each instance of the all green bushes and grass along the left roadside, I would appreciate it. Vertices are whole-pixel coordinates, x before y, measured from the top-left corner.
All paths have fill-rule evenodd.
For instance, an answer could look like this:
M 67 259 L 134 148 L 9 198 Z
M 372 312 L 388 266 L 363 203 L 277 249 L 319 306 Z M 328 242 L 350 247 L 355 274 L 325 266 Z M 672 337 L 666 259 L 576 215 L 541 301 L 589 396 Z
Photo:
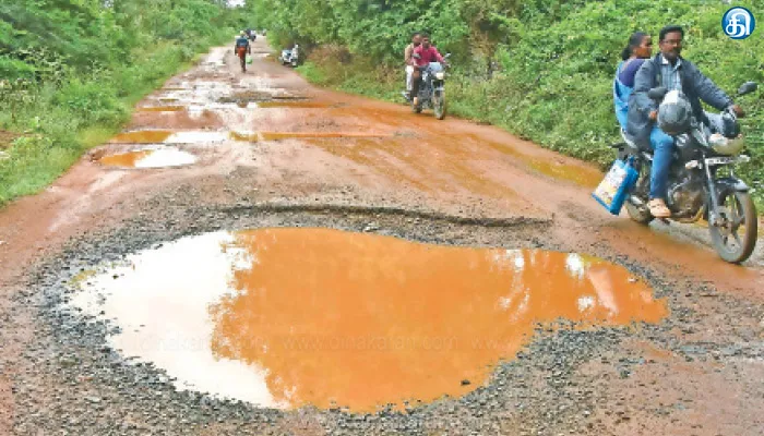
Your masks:
M 0 2 L 0 205 L 39 191 L 133 105 L 232 38 L 224 0 Z

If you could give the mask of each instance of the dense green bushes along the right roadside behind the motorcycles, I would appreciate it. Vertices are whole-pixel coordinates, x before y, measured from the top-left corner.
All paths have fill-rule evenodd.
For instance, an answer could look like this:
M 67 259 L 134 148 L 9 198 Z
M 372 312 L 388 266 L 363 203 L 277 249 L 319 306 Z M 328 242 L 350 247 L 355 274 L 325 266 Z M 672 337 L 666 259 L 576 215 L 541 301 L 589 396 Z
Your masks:
M 745 0 L 764 16 L 764 0 Z M 402 102 L 402 58 L 414 31 L 452 52 L 452 114 L 489 122 L 602 168 L 620 141 L 611 84 L 634 31 L 685 27 L 683 55 L 729 94 L 764 85 L 764 28 L 745 40 L 721 31 L 718 0 L 248 0 L 250 16 L 277 47 L 308 49 L 301 72 L 314 83 Z M 761 16 L 759 17 L 762 22 Z M 764 86 L 739 100 L 752 161 L 740 167 L 764 211 Z

